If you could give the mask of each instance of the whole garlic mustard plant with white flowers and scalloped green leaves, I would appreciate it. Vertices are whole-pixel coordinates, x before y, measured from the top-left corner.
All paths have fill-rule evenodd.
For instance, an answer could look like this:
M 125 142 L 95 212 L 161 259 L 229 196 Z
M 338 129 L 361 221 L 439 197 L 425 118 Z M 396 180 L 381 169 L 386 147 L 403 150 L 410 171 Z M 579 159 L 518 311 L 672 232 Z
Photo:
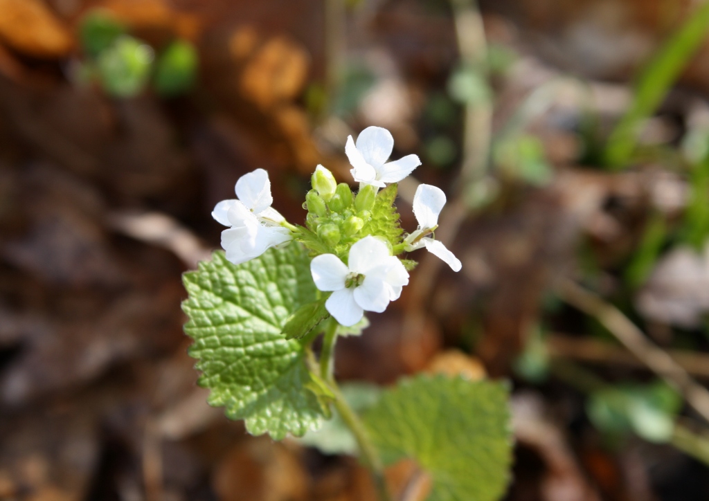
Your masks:
M 417 376 L 377 393 L 376 405 L 358 414 L 335 381 L 337 337 L 361 334 L 369 325 L 364 312 L 384 312 L 400 297 L 415 266 L 406 253 L 425 247 L 455 271 L 462 267 L 432 237 L 446 201 L 440 188 L 418 187 L 417 230 L 407 235 L 399 225 L 396 183 L 420 161 L 411 154 L 386 163 L 392 150 L 383 128 L 363 130 L 356 144 L 349 137 L 345 153 L 359 190 L 318 165 L 303 225 L 272 208 L 267 171 L 241 176 L 237 198 L 212 212 L 228 226 L 225 252 L 184 275 L 189 353 L 198 359 L 199 383 L 211 390 L 208 402 L 244 420 L 252 434 L 305 435 L 317 444 L 308 437 L 327 426 L 334 407 L 340 432 L 350 434 L 338 443 L 357 444 L 382 501 L 391 499 L 384 463 L 403 456 L 432 475 L 431 500 L 494 501 L 511 459 L 506 385 Z

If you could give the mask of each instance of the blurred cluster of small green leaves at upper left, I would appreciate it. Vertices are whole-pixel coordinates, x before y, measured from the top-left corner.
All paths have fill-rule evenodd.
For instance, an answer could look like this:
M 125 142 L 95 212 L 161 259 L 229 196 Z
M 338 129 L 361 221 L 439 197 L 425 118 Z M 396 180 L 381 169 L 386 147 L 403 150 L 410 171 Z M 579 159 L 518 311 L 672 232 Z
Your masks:
M 130 98 L 151 86 L 159 96 L 170 98 L 186 94 L 196 81 L 199 57 L 194 45 L 178 39 L 157 50 L 130 35 L 128 26 L 109 11 L 86 14 L 79 40 L 85 57 L 79 73 L 109 96 Z

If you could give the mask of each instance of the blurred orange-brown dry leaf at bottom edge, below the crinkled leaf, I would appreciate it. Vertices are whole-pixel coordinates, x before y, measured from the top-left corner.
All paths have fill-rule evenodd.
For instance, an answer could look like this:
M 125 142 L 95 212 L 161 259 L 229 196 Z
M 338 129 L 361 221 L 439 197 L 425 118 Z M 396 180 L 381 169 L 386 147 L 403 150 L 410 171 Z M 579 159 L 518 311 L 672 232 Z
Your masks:
M 235 446 L 216 467 L 220 501 L 306 501 L 308 477 L 298 458 L 267 437 Z

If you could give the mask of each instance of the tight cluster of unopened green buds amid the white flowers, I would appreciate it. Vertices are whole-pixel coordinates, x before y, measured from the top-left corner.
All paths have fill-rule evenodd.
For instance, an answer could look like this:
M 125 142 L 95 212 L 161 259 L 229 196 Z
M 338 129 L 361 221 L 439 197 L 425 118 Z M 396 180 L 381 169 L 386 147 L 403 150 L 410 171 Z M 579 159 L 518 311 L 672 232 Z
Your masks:
M 376 198 L 374 186 L 364 186 L 357 196 L 347 183 L 335 183 L 333 173 L 322 165 L 313 173 L 313 189 L 306 195 L 306 225 L 330 247 L 358 240 L 359 232 L 372 219 Z

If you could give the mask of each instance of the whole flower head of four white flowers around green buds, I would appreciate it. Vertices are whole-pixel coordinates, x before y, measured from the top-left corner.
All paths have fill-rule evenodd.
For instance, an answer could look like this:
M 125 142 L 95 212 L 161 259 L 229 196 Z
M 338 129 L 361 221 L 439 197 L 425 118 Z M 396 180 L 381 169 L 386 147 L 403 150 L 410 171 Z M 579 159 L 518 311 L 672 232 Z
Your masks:
M 357 137 L 347 137 L 345 153 L 352 177 L 359 183 L 356 195 L 346 183 L 318 165 L 306 195 L 306 226 L 291 225 L 271 207 L 271 183 L 267 171 L 256 169 L 236 183 L 237 199 L 216 205 L 212 216 L 222 225 L 221 243 L 226 258 L 240 264 L 258 257 L 270 247 L 301 242 L 311 250 L 311 274 L 316 287 L 329 294 L 325 308 L 341 325 L 354 325 L 364 311 L 381 313 L 401 295 L 408 271 L 397 256 L 425 247 L 454 271 L 460 261 L 435 240 L 438 215 L 446 198 L 440 188 L 421 184 L 413 199 L 418 228 L 401 235 L 393 208 L 397 183 L 420 165 L 415 154 L 387 162 L 393 150 L 388 130 L 369 127 Z M 386 193 L 389 191 L 389 193 Z M 385 195 L 389 195 L 387 198 Z

